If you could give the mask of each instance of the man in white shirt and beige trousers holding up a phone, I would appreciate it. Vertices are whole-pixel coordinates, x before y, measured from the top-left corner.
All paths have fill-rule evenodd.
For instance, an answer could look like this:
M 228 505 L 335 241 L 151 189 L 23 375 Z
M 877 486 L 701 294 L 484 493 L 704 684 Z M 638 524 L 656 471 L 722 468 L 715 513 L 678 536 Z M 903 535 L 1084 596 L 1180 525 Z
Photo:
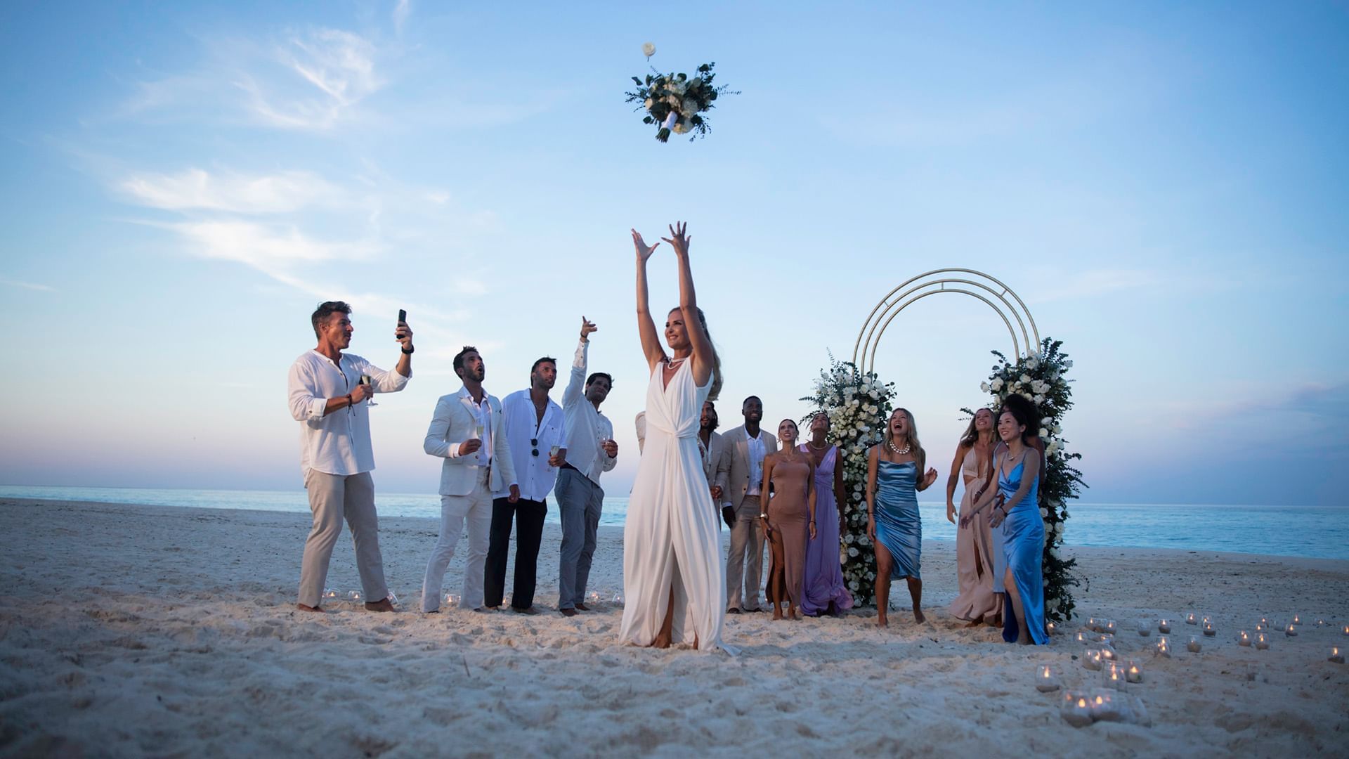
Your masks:
M 356 570 L 366 609 L 393 612 L 384 563 L 379 555 L 379 516 L 375 513 L 375 454 L 370 446 L 370 409 L 378 390 L 397 393 L 413 375 L 413 331 L 399 321 L 394 339 L 402 344 L 395 371 L 384 371 L 364 358 L 341 351 L 351 346 L 351 307 L 325 301 L 310 316 L 318 344 L 290 365 L 286 389 L 290 415 L 299 423 L 299 470 L 309 492 L 314 525 L 305 539 L 299 567 L 302 612 L 320 612 L 328 562 L 347 517 L 356 543 Z M 363 378 L 368 377 L 368 384 Z M 378 598 L 378 601 L 374 601 Z

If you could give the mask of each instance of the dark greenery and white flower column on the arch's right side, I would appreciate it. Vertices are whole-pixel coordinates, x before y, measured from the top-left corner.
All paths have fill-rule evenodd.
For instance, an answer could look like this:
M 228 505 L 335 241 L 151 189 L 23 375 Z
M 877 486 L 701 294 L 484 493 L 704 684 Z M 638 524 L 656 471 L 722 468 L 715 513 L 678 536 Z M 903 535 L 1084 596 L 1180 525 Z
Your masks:
M 1082 473 L 1068 462 L 1081 459 L 1082 454 L 1064 452 L 1063 415 L 1072 408 L 1072 389 L 1064 377 L 1072 369 L 1068 354 L 1059 347 L 1063 340 L 1045 338 L 1039 355 L 1028 355 L 1009 362 L 1005 355 L 992 351 L 998 358 L 989 381 L 979 389 L 993 396 L 990 408 L 998 409 L 1012 393 L 1020 393 L 1032 401 L 1040 413 L 1040 428 L 1036 431 L 1044 442 L 1048 459 L 1047 471 L 1040 478 L 1040 516 L 1044 517 L 1044 613 L 1050 621 L 1072 619 L 1075 601 L 1068 587 L 1082 585 L 1082 578 L 1074 571 L 1077 559 L 1064 559 L 1059 554 L 1063 544 L 1063 523 L 1068 519 L 1067 502 L 1078 497 L 1086 488 Z M 963 409 L 973 416 L 974 412 Z

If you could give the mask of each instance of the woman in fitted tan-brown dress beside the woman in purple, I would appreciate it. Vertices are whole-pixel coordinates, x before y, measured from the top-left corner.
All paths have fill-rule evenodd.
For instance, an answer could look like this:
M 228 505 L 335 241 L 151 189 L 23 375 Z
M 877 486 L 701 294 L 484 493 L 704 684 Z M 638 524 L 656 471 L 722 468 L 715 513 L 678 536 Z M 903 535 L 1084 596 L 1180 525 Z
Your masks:
M 789 619 L 799 619 L 801 586 L 805 582 L 805 543 L 815 540 L 815 463 L 796 447 L 796 423 L 784 419 L 777 425 L 782 446 L 764 458 L 762 493 L 772 493 L 768 508 L 759 515 L 769 540 L 768 600 L 773 619 L 782 619 L 786 601 Z M 772 489 L 770 489 L 772 486 Z

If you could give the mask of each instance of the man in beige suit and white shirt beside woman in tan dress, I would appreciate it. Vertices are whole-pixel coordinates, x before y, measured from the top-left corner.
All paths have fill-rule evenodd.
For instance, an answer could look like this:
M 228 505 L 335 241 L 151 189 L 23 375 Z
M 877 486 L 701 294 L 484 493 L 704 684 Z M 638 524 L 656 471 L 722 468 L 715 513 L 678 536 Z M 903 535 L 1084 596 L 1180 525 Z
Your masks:
M 759 488 L 764 483 L 764 456 L 777 452 L 777 438 L 759 429 L 764 401 L 758 396 L 745 398 L 741 415 L 745 424 L 722 436 L 731 458 L 722 506 L 735 515 L 731 550 L 726 555 L 726 610 L 731 614 L 738 614 L 742 609 L 761 610 L 758 601 L 764 579 L 764 528 L 759 516 L 768 505 L 768 493 L 759 493 Z

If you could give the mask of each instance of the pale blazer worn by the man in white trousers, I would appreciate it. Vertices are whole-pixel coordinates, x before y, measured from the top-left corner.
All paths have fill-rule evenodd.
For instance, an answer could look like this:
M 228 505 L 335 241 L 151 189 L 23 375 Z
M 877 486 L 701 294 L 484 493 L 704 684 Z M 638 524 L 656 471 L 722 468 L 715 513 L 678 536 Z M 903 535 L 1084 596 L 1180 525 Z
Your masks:
M 487 490 L 499 493 L 515 481 L 515 466 L 510 461 L 510 442 L 506 439 L 506 415 L 502 413 L 502 402 L 496 396 L 487 396 L 487 407 L 492 411 L 492 458 L 491 482 Z M 463 443 L 473 438 L 473 427 L 478 424 L 478 413 L 473 409 L 473 398 L 468 394 L 468 388 L 460 388 L 452 396 L 441 396 L 436 401 L 436 413 L 430 417 L 430 427 L 426 429 L 426 439 L 422 450 L 433 456 L 445 459 L 440 467 L 440 494 L 441 496 L 468 496 L 482 477 L 478 463 L 478 452 L 460 455 Z

